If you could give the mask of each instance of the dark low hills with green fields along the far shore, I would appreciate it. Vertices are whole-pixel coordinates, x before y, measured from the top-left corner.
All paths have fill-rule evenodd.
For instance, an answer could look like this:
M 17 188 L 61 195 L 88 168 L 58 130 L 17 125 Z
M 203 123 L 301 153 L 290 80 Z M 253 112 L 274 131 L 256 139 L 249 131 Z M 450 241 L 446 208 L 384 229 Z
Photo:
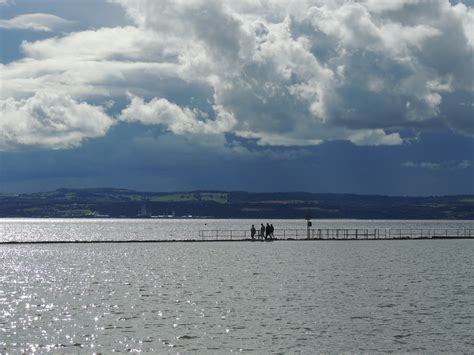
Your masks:
M 474 219 L 474 196 L 59 189 L 0 194 L 0 217 Z

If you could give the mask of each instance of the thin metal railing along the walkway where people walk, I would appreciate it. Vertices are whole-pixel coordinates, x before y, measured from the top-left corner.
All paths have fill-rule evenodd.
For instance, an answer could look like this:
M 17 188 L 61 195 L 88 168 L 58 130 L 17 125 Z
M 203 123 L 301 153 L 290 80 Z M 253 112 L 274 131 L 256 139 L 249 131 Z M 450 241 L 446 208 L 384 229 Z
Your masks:
M 275 229 L 273 237 L 283 240 L 376 240 L 376 239 L 432 239 L 432 238 L 474 238 L 474 229 L 403 229 L 403 228 L 299 228 Z M 200 240 L 246 240 L 251 239 L 250 230 L 203 229 Z M 259 231 L 254 239 L 263 239 Z

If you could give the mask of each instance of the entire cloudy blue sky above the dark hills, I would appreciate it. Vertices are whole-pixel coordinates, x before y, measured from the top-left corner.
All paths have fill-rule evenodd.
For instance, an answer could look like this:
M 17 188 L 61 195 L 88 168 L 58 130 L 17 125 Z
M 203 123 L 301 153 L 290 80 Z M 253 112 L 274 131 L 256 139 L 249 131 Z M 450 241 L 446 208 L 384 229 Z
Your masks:
M 474 1 L 0 0 L 0 192 L 474 194 Z

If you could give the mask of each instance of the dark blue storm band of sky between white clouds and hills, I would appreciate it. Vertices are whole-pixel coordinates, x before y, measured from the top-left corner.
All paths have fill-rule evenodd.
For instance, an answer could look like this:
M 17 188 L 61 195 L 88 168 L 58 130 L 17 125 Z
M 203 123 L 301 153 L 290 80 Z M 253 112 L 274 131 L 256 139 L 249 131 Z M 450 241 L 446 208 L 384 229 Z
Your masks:
M 472 139 L 438 133 L 376 149 L 330 142 L 289 151 L 124 124 L 80 148 L 0 153 L 0 186 L 15 192 L 116 186 L 141 191 L 461 194 L 474 193 L 474 167 L 466 162 L 472 161 L 473 150 Z

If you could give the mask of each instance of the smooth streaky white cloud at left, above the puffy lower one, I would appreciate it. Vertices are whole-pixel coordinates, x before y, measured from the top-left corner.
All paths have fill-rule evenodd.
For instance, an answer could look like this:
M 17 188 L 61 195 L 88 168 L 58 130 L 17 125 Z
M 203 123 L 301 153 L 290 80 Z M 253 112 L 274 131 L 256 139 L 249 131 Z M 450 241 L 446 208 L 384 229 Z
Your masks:
M 27 58 L 0 64 L 0 96 L 25 98 L 44 88 L 81 99 L 154 92 L 151 79 L 163 86 L 170 76 L 176 81 L 180 66 L 172 48 L 167 39 L 134 27 L 23 42 Z

